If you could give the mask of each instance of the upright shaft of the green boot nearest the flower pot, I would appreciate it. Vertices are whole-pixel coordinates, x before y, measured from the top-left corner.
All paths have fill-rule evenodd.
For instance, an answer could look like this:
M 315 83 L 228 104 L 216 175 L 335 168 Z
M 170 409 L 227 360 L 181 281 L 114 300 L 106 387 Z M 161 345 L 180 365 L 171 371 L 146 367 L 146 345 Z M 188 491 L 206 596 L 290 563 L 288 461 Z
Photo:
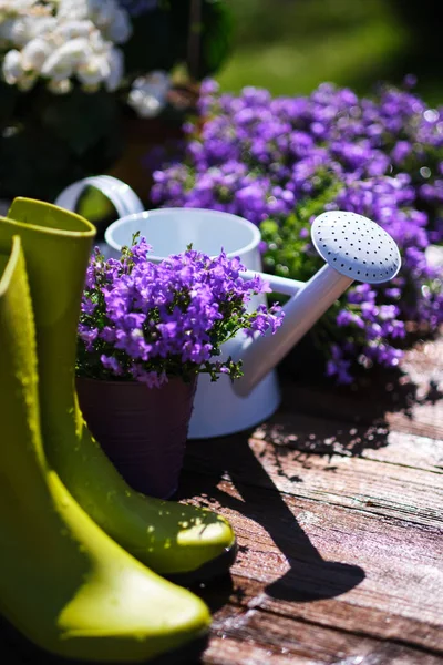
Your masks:
M 16 234 L 27 258 L 35 316 L 43 431 L 51 436 L 47 413 L 79 421 L 73 391 L 76 326 L 95 228 L 56 206 L 16 198 L 8 218 L 0 221 L 0 242 Z

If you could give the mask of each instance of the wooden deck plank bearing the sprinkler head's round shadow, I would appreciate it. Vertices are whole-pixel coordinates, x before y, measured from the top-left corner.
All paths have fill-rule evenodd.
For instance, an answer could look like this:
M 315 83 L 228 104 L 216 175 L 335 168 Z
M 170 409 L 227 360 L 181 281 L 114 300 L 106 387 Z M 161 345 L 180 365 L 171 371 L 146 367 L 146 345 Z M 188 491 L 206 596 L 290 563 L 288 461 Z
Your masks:
M 206 504 L 236 530 L 240 554 L 231 603 L 443 653 L 440 530 L 186 477 L 189 489 L 199 484 Z

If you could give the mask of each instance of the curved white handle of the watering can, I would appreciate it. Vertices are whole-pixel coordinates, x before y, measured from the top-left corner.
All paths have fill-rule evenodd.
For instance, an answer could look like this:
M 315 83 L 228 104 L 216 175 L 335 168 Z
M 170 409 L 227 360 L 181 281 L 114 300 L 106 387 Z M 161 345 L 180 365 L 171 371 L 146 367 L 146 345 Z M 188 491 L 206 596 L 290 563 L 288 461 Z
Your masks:
M 80 196 L 86 187 L 95 187 L 104 194 L 115 207 L 119 217 L 125 217 L 134 213 L 143 213 L 144 205 L 131 190 L 122 181 L 111 175 L 93 175 L 69 185 L 54 201 L 55 205 L 68 211 L 75 212 L 75 206 Z

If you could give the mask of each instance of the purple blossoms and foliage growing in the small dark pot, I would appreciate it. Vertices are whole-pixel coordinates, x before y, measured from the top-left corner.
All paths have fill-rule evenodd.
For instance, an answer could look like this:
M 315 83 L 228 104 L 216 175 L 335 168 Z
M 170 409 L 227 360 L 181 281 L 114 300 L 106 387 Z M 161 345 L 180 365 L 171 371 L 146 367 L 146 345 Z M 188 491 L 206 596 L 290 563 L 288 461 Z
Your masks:
M 251 295 L 267 291 L 267 284 L 259 276 L 244 280 L 239 259 L 224 253 L 209 258 L 188 247 L 154 264 L 150 249 L 142 238 L 107 262 L 95 250 L 82 299 L 78 374 L 150 387 L 169 376 L 241 376 L 241 361 L 220 357 L 220 347 L 239 330 L 254 336 L 280 326 L 277 305 L 248 310 Z

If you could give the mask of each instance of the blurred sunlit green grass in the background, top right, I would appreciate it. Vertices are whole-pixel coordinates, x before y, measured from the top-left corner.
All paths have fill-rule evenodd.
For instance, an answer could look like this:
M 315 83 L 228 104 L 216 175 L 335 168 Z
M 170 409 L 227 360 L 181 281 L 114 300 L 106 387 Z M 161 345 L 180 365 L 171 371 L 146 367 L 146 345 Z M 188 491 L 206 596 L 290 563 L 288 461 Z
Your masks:
M 369 93 L 377 81 L 414 72 L 419 92 L 442 101 L 440 0 L 228 0 L 234 52 L 217 76 L 274 94 L 308 94 L 322 81 Z

